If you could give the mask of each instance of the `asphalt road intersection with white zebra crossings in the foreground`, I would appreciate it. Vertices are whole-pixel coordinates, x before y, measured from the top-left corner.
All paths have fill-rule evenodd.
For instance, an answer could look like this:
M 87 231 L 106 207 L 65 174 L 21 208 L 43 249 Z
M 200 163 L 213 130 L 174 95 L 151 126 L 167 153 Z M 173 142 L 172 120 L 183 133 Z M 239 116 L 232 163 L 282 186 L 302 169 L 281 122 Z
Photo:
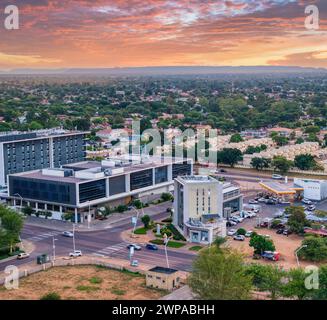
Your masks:
M 161 212 L 153 216 L 154 220 L 161 220 L 167 217 L 167 212 Z M 142 225 L 142 223 L 138 223 Z M 81 250 L 83 254 L 94 254 L 105 257 L 117 257 L 129 260 L 128 243 L 124 242 L 120 236 L 121 232 L 131 228 L 130 222 L 113 223 L 110 229 L 101 231 L 75 231 L 75 247 Z M 53 254 L 53 238 L 55 241 L 56 256 L 68 256 L 73 251 L 73 239 L 64 237 L 61 231 L 44 228 L 41 226 L 25 225 L 21 238 L 32 242 L 35 250 L 28 259 L 11 260 L 0 263 L 0 271 L 4 270 L 7 265 L 22 265 L 28 262 L 36 261 L 36 257 L 40 254 Z M 170 267 L 178 270 L 189 270 L 192 261 L 195 258 L 194 253 L 186 253 L 176 249 L 168 249 L 168 257 Z M 165 251 L 149 251 L 142 248 L 141 251 L 135 251 L 133 259 L 137 259 L 140 263 L 156 264 L 159 266 L 166 265 Z

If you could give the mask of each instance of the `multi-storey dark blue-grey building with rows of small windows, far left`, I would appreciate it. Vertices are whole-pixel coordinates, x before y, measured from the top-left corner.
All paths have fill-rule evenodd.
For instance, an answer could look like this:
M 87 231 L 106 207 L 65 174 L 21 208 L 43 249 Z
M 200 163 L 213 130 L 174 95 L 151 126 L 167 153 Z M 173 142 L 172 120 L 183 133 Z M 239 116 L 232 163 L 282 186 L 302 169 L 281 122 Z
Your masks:
M 86 132 L 62 129 L 0 135 L 0 186 L 8 174 L 55 168 L 85 160 Z

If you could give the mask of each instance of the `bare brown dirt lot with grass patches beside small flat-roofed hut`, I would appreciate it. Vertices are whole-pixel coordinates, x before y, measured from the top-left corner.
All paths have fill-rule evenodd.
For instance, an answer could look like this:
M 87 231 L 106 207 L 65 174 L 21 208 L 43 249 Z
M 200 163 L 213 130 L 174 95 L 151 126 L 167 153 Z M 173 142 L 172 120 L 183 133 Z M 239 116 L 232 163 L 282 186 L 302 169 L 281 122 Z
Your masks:
M 145 278 L 96 266 L 56 267 L 20 280 L 19 289 L 0 287 L 0 300 L 39 300 L 56 292 L 62 300 L 154 300 L 164 291 L 145 287 Z

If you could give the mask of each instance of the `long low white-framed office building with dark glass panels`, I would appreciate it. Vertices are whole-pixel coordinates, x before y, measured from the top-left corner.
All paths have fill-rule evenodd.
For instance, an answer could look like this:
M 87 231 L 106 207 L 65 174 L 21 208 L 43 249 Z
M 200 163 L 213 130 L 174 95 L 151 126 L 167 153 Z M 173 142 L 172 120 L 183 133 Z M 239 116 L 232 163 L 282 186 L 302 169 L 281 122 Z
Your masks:
M 192 160 L 161 157 L 121 157 L 102 162 L 83 161 L 9 175 L 8 200 L 76 222 L 94 217 L 97 209 L 128 204 L 133 198 L 168 192 L 180 175 L 193 172 Z

